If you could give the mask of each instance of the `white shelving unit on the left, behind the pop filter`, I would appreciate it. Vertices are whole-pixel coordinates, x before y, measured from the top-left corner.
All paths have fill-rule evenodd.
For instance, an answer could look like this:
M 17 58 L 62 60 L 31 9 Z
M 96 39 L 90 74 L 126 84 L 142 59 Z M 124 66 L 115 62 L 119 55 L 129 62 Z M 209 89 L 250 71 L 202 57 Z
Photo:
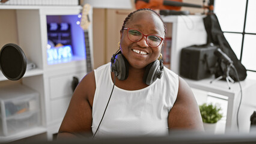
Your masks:
M 47 62 L 47 17 L 56 16 L 58 17 L 56 23 L 59 23 L 64 20 L 62 19 L 63 16 L 75 16 L 81 13 L 82 7 L 79 5 L 0 5 L 0 10 L 16 11 L 19 41 L 17 44 L 25 52 L 26 58 L 34 62 L 37 67 L 33 70 L 27 70 L 20 82 L 22 85 L 26 85 L 39 93 L 40 110 L 42 113 L 42 124 L 40 127 L 21 131 L 11 136 L 0 136 L 0 142 L 11 142 L 42 133 L 45 133 L 47 139 L 50 140 L 52 139 L 52 134 L 58 133 L 59 125 L 69 106 L 73 94 L 71 88 L 73 76 L 81 80 L 86 74 L 86 60 L 84 54 L 84 56 L 79 56 L 78 59 L 74 58 L 68 62 L 56 64 L 49 64 Z M 92 14 L 90 14 L 90 18 L 92 22 Z M 77 24 L 76 26 L 79 27 Z M 88 31 L 90 34 L 90 48 L 93 49 L 92 24 Z M 82 35 L 84 34 L 82 29 L 81 33 Z M 76 37 L 74 35 L 73 37 Z M 80 38 L 78 43 L 84 43 L 83 40 L 84 38 Z M 85 47 L 78 46 L 77 44 L 74 44 L 73 49 L 82 49 L 85 53 Z M 2 73 L 0 74 L 0 81 L 2 83 L 8 81 Z

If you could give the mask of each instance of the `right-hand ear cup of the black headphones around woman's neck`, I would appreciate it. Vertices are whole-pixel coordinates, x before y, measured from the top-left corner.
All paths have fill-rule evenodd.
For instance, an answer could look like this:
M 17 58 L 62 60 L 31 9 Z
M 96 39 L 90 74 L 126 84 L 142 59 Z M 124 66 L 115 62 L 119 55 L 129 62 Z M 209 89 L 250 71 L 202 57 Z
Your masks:
M 160 70 L 160 61 L 156 60 L 147 65 L 143 81 L 147 85 L 151 85 L 156 79 L 162 77 L 163 70 Z

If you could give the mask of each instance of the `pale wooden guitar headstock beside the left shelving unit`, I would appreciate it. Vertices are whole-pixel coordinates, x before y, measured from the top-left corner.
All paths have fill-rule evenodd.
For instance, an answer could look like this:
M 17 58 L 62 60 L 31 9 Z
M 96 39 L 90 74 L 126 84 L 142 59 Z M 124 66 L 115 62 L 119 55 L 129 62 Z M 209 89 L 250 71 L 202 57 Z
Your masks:
M 85 4 L 83 6 L 80 26 L 84 30 L 87 30 L 90 25 L 90 19 L 89 19 L 89 11 L 90 10 L 91 10 L 91 5 Z

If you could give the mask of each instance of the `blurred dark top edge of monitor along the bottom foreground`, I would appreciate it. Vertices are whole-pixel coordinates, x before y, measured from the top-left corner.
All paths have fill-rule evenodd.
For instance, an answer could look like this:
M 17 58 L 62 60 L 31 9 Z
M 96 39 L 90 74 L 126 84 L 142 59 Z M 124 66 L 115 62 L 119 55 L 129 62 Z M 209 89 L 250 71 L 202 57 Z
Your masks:
M 14 142 L 15 143 L 15 142 Z M 21 142 L 17 142 L 21 143 Z M 224 143 L 236 143 L 236 144 L 248 144 L 256 143 L 256 131 L 251 133 L 229 133 L 229 134 L 213 134 L 213 133 L 195 133 L 178 131 L 172 132 L 169 136 L 153 136 L 153 137 L 105 137 L 101 139 L 90 138 L 76 138 L 76 139 L 58 139 L 53 141 L 32 140 L 24 143 L 50 143 L 50 144 L 224 144 Z

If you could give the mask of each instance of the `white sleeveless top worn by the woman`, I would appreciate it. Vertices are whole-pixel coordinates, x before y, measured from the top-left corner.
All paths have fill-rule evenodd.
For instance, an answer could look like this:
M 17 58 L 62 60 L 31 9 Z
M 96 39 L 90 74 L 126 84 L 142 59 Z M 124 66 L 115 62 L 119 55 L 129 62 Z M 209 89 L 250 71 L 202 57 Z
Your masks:
M 110 62 L 94 70 L 93 133 L 102 119 L 114 83 Z M 168 113 L 178 93 L 178 76 L 164 67 L 161 79 L 146 88 L 127 91 L 117 86 L 95 137 L 164 136 L 168 134 Z

